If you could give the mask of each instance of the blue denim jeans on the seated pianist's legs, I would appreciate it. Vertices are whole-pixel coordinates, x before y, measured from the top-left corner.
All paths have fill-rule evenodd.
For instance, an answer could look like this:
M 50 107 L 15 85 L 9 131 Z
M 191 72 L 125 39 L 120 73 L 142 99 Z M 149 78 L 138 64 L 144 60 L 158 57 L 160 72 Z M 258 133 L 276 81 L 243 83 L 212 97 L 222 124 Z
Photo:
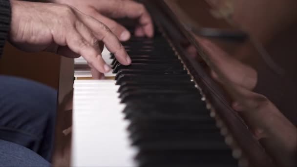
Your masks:
M 50 166 L 57 91 L 0 76 L 0 166 Z

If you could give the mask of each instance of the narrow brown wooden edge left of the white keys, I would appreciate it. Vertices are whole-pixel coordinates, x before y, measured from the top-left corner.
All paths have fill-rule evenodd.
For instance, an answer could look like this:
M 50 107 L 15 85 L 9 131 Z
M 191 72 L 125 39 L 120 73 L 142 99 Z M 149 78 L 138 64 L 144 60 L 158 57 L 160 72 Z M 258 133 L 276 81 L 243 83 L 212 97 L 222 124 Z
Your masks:
M 55 122 L 53 155 L 51 161 L 54 167 L 70 166 L 70 141 L 72 135 L 70 133 L 65 136 L 63 130 L 72 124 L 73 78 L 74 60 L 61 56 L 58 105 Z

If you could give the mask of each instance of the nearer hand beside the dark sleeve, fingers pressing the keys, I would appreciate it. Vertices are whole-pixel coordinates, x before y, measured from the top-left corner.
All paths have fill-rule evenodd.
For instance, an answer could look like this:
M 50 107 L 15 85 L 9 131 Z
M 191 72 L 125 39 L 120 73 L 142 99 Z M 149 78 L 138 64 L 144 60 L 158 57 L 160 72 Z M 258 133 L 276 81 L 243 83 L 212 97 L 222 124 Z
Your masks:
M 131 63 L 116 35 L 105 24 L 77 9 L 65 4 L 10 1 L 9 42 L 19 49 L 49 51 L 69 58 L 81 55 L 91 67 L 95 79 L 110 71 L 101 56 L 101 42 L 120 63 Z

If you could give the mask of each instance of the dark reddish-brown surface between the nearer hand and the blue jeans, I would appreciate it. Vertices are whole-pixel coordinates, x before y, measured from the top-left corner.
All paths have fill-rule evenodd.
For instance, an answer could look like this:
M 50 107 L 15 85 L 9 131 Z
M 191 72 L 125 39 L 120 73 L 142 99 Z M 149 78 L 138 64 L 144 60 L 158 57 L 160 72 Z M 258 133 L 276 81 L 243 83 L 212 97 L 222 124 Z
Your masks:
M 0 75 L 10 75 L 58 89 L 60 56 L 51 53 L 23 52 L 8 42 L 0 59 Z

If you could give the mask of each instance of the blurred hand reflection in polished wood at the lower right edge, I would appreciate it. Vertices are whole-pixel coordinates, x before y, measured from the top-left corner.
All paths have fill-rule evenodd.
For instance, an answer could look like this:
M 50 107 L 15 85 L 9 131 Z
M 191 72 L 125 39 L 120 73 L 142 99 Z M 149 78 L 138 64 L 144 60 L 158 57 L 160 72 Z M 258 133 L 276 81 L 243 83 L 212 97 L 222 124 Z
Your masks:
M 295 167 L 297 128 L 265 96 L 247 89 L 241 99 L 233 103 L 255 137 L 281 166 Z

